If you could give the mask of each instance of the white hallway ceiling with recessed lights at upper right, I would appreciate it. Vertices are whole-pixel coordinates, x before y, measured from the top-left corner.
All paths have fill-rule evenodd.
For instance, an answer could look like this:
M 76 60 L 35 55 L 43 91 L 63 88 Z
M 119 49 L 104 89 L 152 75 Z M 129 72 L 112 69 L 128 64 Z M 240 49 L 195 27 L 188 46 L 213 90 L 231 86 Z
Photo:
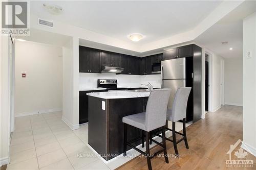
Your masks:
M 255 12 L 256 1 L 246 1 L 196 38 L 196 42 L 224 58 L 243 56 L 243 18 Z M 223 45 L 221 42 L 228 41 Z M 229 50 L 232 47 L 233 50 Z

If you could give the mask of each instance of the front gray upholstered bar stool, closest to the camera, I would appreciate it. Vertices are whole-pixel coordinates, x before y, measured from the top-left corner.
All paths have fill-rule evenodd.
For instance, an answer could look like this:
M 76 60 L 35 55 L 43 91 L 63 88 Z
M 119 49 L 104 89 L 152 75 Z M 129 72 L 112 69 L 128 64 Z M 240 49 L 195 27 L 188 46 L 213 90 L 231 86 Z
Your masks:
M 147 159 L 147 166 L 148 169 L 152 169 L 151 166 L 151 159 L 157 154 L 164 152 L 165 162 L 169 163 L 166 151 L 166 144 L 165 144 L 165 123 L 166 123 L 166 111 L 168 100 L 170 96 L 171 89 L 158 89 L 152 90 L 150 96 L 147 100 L 146 111 L 138 114 L 132 114 L 129 116 L 125 116 L 122 118 L 123 125 L 124 125 L 124 133 L 123 133 L 123 156 L 126 156 L 126 147 L 129 145 L 136 151 L 144 154 Z M 132 142 L 127 142 L 127 125 L 139 128 L 142 130 L 142 134 L 145 131 L 146 136 L 146 152 L 143 152 L 132 145 Z M 150 154 L 150 132 L 152 130 L 162 128 L 162 141 L 163 143 L 159 143 L 155 140 L 155 143 L 160 145 L 163 149 L 154 153 Z M 143 138 L 143 137 L 142 137 Z M 144 143 L 144 139 L 142 139 Z

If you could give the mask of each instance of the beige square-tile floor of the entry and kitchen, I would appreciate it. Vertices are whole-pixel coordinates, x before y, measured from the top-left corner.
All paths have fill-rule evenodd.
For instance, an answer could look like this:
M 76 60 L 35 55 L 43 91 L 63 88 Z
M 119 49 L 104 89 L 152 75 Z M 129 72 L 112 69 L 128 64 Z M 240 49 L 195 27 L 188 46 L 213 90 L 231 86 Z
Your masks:
M 115 169 L 133 158 L 120 155 L 108 163 L 102 162 L 87 147 L 88 124 L 72 131 L 62 122 L 61 116 L 61 112 L 53 112 L 15 118 L 7 170 Z M 178 123 L 176 129 L 181 130 L 182 124 Z M 135 150 L 128 153 L 139 154 Z M 91 157 L 79 157 L 78 154 Z

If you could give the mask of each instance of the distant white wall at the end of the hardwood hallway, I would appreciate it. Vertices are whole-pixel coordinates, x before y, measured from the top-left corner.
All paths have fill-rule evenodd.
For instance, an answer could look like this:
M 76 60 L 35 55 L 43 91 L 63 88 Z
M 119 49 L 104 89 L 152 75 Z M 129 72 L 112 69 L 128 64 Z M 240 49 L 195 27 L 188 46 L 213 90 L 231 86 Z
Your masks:
M 225 104 L 243 106 L 243 58 L 225 59 Z

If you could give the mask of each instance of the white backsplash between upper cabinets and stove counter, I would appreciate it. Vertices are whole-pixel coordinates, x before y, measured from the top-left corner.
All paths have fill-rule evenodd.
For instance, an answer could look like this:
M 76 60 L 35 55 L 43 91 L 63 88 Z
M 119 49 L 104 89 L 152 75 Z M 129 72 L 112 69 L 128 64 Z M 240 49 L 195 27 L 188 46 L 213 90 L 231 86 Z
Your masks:
M 154 88 L 160 88 L 160 75 L 115 75 L 109 73 L 79 73 L 79 89 L 96 88 L 98 79 L 117 79 L 118 87 L 145 87 L 141 84 L 150 82 Z

